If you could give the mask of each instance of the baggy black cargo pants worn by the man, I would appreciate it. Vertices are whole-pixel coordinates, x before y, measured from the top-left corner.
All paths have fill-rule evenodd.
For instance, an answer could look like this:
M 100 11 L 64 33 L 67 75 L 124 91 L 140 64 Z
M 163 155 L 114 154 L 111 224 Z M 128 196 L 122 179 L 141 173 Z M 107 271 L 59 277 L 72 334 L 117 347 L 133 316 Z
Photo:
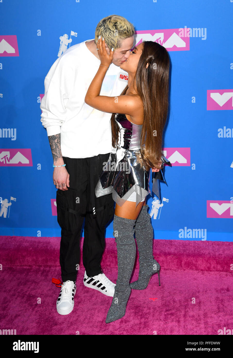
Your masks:
M 57 221 L 61 227 L 60 266 L 62 281 L 76 281 L 80 261 L 83 220 L 83 265 L 88 276 L 102 273 L 105 226 L 114 215 L 112 194 L 96 198 L 94 188 L 110 153 L 91 158 L 63 157 L 69 173 L 68 190 L 57 190 Z

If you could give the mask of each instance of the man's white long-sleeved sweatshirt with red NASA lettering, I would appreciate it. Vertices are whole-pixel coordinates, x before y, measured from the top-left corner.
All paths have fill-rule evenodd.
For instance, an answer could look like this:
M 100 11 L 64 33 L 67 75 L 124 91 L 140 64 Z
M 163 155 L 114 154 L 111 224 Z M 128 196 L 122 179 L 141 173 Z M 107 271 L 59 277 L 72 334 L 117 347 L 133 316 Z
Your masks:
M 84 102 L 100 65 L 86 41 L 71 46 L 54 62 L 45 77 L 40 104 L 40 121 L 47 135 L 61 134 L 62 156 L 69 158 L 89 158 L 112 151 L 112 113 L 98 111 Z M 111 63 L 100 95 L 119 96 L 127 85 L 124 75 L 127 78 L 127 72 Z

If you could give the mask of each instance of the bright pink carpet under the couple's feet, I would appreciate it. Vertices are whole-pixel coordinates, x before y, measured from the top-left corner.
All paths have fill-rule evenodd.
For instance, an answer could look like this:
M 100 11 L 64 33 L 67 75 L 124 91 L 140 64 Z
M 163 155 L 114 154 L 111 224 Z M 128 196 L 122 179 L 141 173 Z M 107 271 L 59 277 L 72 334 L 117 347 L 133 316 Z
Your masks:
M 61 280 L 59 245 L 59 237 L 0 236 L 2 329 L 19 335 L 217 335 L 233 329 L 233 242 L 154 240 L 161 286 L 155 274 L 146 290 L 132 290 L 125 316 L 109 324 L 112 297 L 83 285 L 82 257 L 74 309 L 57 313 L 60 288 L 52 277 Z M 116 283 L 114 238 L 106 239 L 101 266 Z M 132 281 L 138 270 L 136 258 Z

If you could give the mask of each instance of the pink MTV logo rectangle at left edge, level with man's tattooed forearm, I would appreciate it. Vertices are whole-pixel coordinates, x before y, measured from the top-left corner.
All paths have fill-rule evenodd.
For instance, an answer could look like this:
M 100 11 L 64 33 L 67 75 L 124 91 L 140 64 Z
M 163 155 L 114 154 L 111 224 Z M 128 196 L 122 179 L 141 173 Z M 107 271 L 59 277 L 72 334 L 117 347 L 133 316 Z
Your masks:
M 0 149 L 0 166 L 33 166 L 31 149 Z

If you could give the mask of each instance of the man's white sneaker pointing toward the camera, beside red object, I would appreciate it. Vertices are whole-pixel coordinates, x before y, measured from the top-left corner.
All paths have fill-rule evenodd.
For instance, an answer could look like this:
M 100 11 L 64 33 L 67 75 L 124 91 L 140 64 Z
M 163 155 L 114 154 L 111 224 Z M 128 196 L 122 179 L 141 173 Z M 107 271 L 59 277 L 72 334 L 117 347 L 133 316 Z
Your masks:
M 74 308 L 74 295 L 76 284 L 73 281 L 65 281 L 62 284 L 60 294 L 57 299 L 57 311 L 59 314 L 69 314 Z

